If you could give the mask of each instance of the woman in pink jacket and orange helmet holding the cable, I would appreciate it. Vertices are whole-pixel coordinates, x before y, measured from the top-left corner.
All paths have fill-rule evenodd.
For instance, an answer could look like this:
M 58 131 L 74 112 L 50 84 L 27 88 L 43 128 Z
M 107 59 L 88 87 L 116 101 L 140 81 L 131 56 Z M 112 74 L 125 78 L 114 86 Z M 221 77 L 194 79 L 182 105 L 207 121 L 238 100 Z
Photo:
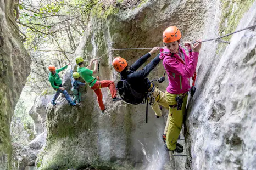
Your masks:
M 189 43 L 185 46 L 189 55 L 179 46 L 181 32 L 176 26 L 170 26 L 163 32 L 164 49 L 161 50 L 160 59 L 169 78 L 166 88 L 167 103 L 169 105 L 168 132 L 166 134 L 165 149 L 181 153 L 183 146 L 177 143 L 187 104 L 187 92 L 190 90 L 190 78 L 197 67 L 197 59 L 201 43 L 197 41 L 194 47 Z M 178 99 L 179 98 L 179 99 Z

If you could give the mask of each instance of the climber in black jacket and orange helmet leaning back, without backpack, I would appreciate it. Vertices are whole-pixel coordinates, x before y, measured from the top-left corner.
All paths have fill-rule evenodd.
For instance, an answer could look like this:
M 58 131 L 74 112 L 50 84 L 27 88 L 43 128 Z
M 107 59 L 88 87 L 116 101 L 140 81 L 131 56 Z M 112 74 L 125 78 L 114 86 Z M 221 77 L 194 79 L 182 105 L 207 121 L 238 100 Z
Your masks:
M 140 59 L 135 61 L 135 63 L 133 63 L 129 69 L 127 61 L 120 56 L 116 57 L 112 62 L 115 70 L 121 74 L 121 79 L 126 79 L 129 82 L 131 88 L 136 90 L 137 93 L 147 93 L 149 104 L 154 110 L 157 118 L 162 116 L 162 111 L 160 110 L 158 104 L 164 106 L 167 109 L 169 105 L 166 102 L 165 93 L 161 92 L 158 87 L 155 87 L 154 84 L 148 80 L 147 76 L 149 75 L 151 70 L 153 70 L 160 62 L 160 54 L 158 54 L 142 70 L 136 70 L 140 66 L 142 66 L 142 64 L 144 64 L 153 53 L 157 52 L 159 49 L 160 47 L 154 47 L 149 53 L 143 55 Z

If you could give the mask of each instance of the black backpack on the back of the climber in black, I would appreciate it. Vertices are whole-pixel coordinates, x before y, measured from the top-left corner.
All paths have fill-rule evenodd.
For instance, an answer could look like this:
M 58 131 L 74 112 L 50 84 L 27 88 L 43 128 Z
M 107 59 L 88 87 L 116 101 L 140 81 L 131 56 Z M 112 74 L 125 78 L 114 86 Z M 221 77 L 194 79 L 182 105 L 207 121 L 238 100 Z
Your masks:
M 120 97 L 127 103 L 137 105 L 146 102 L 147 94 L 136 92 L 127 79 L 121 79 L 116 85 L 116 89 L 118 90 Z

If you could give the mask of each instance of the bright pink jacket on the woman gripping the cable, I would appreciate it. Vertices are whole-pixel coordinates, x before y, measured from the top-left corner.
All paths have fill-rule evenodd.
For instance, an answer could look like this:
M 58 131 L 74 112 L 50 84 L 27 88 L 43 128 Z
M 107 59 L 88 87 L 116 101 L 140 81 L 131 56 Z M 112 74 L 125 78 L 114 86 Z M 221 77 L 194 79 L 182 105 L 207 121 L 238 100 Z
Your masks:
M 185 50 L 179 47 L 184 54 L 184 60 L 170 50 L 160 49 L 160 59 L 163 60 L 164 69 L 168 75 L 169 85 L 166 91 L 171 94 L 186 93 L 190 90 L 190 77 L 193 76 L 197 67 L 198 52 L 190 52 L 187 56 Z

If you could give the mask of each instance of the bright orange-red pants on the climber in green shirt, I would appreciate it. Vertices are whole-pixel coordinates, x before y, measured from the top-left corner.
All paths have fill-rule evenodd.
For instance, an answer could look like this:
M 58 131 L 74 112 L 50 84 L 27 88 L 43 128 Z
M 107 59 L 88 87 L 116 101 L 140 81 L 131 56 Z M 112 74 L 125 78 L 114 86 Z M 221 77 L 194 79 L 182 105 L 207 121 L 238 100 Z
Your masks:
M 112 98 L 116 97 L 116 88 L 115 88 L 115 83 L 113 81 L 110 80 L 101 80 L 101 81 L 97 81 L 92 87 L 91 89 L 94 90 L 94 92 L 97 95 L 97 99 L 98 99 L 98 103 L 99 103 L 99 107 L 101 108 L 101 110 L 105 109 L 105 106 L 103 104 L 102 101 L 102 93 L 101 93 L 101 88 L 103 87 L 108 87 L 110 90 L 110 93 L 112 95 Z

